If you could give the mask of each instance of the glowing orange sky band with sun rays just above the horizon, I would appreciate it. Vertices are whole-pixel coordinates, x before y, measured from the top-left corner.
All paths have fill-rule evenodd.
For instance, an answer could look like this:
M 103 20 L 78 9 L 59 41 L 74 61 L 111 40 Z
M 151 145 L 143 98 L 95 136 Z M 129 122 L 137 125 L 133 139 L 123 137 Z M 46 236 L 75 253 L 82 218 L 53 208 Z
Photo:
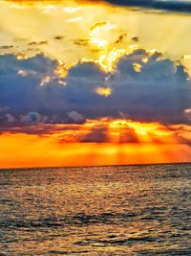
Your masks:
M 177 131 L 155 123 L 102 119 L 52 125 L 49 130 L 46 125 L 38 127 L 33 132 L 42 135 L 21 129 L 0 136 L 1 167 L 165 163 L 188 161 L 191 156 Z

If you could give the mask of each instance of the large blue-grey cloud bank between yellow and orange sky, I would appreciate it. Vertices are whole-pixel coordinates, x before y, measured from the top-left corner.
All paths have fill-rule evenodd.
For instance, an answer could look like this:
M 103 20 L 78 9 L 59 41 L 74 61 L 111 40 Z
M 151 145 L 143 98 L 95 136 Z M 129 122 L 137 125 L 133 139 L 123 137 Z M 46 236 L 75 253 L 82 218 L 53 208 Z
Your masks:
M 120 58 L 116 74 L 110 77 L 95 63 L 78 63 L 63 79 L 66 86 L 55 77 L 56 64 L 41 55 L 23 60 L 0 57 L 1 126 L 81 124 L 85 118 L 117 118 L 121 113 L 144 122 L 190 123 L 185 109 L 191 106 L 191 83 L 183 66 L 162 59 L 159 53 L 138 50 Z M 49 82 L 39 86 L 46 77 Z M 112 94 L 97 94 L 100 87 L 111 88 Z M 136 138 L 132 134 L 129 140 Z

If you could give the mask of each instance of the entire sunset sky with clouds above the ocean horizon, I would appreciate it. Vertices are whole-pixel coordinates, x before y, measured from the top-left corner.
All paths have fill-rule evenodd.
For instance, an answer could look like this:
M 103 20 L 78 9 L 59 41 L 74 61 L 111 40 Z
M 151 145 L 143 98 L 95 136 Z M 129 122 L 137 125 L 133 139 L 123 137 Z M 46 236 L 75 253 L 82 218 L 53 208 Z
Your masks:
M 191 1 L 0 2 L 0 168 L 191 161 Z

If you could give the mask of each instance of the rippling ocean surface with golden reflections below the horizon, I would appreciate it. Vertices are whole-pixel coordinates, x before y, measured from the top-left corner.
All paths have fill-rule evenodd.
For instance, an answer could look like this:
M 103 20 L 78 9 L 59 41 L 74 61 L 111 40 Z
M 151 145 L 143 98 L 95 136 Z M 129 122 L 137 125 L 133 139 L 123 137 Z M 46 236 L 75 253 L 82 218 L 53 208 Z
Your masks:
M 191 164 L 0 170 L 0 255 L 191 255 Z

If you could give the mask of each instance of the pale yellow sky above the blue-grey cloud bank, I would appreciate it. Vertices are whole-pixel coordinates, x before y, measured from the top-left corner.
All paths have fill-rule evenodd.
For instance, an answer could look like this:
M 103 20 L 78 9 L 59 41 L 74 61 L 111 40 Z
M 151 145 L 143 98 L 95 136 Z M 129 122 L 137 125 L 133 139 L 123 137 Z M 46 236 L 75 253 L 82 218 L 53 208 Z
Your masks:
M 183 14 L 134 12 L 95 2 L 2 1 L 0 5 L 4 27 L 0 54 L 23 59 L 43 53 L 62 61 L 64 70 L 78 61 L 93 61 L 106 72 L 114 71 L 117 59 L 135 47 L 158 49 L 177 60 L 189 55 L 191 20 Z M 189 68 L 188 60 L 185 64 Z

